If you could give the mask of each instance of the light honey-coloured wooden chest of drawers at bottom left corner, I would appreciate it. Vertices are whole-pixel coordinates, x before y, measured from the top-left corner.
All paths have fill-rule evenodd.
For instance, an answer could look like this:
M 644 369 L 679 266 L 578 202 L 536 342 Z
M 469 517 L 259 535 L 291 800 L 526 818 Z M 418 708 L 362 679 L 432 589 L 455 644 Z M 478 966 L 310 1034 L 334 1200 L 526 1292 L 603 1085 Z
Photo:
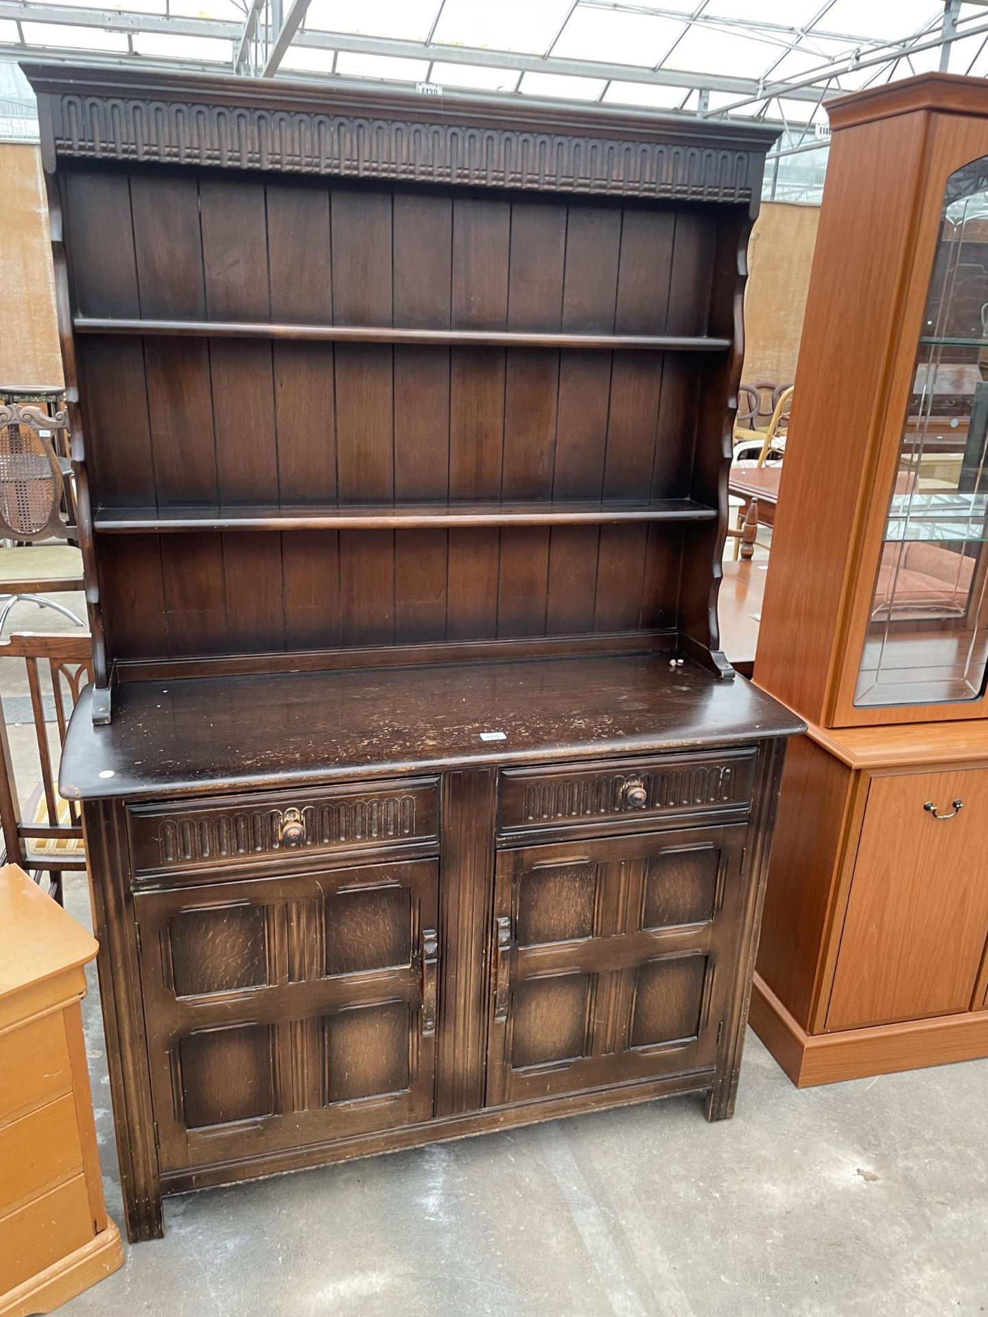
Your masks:
M 0 1317 L 51 1312 L 124 1260 L 79 1009 L 95 955 L 21 869 L 0 868 Z

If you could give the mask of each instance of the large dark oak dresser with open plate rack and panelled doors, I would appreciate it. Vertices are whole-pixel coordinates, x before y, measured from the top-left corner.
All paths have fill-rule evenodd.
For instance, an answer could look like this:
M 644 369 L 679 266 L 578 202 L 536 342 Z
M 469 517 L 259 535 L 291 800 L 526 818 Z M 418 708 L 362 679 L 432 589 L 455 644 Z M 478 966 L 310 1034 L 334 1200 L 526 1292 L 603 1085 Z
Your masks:
M 28 75 L 130 1238 L 163 1193 L 730 1115 L 802 730 L 715 622 L 772 133 Z

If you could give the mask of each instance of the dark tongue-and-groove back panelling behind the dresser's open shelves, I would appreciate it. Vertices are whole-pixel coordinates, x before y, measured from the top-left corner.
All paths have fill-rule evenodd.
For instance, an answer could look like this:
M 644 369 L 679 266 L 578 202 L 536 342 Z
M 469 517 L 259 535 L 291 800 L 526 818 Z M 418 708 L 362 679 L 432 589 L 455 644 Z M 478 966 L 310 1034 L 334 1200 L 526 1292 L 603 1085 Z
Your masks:
M 747 207 L 63 170 L 76 315 L 731 335 Z M 736 263 L 736 262 L 735 262 Z M 723 278 L 723 271 L 721 274 Z M 718 503 L 723 354 L 84 333 L 121 661 L 674 631 L 715 523 L 101 532 L 179 510 Z M 705 394 L 713 392 L 713 404 Z M 701 407 L 701 400 L 707 407 Z M 715 460 L 697 462 L 697 417 Z

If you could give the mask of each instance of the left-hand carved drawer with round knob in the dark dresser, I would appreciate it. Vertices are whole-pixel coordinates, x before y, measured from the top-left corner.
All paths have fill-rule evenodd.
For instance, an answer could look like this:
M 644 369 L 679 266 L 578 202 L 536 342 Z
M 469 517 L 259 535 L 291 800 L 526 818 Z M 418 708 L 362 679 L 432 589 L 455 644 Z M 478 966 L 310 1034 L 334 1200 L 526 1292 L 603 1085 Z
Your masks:
M 439 780 L 128 806 L 136 874 L 437 840 Z

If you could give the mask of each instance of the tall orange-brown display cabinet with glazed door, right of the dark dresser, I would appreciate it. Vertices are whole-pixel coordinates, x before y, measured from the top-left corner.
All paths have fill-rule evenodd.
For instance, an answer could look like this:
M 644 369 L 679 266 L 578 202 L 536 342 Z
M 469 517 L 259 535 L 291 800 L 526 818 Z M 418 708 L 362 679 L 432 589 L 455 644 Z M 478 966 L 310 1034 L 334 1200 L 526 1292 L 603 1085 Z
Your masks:
M 801 1085 L 988 1055 L 988 91 L 827 111 L 755 662 L 810 724 L 752 1002 Z

